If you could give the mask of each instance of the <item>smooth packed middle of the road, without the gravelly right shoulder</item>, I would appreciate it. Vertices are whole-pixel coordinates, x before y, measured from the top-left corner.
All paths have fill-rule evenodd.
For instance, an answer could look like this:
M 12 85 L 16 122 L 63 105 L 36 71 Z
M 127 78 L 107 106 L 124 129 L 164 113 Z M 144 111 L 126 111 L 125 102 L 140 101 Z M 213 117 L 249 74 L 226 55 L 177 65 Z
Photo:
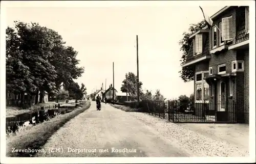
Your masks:
M 191 152 L 180 149 L 175 142 L 159 135 L 156 129 L 144 125 L 129 113 L 117 110 L 108 104 L 102 104 L 101 111 L 96 111 L 96 104 L 93 102 L 86 112 L 59 129 L 44 146 L 46 153 L 37 156 L 193 156 Z

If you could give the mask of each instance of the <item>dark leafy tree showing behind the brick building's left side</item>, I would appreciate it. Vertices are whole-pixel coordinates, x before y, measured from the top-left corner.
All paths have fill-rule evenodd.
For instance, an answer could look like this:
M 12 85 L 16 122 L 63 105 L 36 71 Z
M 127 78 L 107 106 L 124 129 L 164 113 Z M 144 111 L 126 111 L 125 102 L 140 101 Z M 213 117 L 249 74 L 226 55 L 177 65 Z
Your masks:
M 188 40 L 189 36 L 200 29 L 203 29 L 206 26 L 205 21 L 200 21 L 197 24 L 190 24 L 188 32 L 183 33 L 183 38 L 179 41 L 179 45 L 181 45 L 180 50 L 182 51 L 181 56 L 181 65 L 185 64 L 186 58 L 188 55 L 188 51 L 191 45 L 191 41 Z M 186 83 L 191 80 L 194 80 L 194 68 L 193 67 L 182 67 L 182 70 L 179 71 L 181 79 Z

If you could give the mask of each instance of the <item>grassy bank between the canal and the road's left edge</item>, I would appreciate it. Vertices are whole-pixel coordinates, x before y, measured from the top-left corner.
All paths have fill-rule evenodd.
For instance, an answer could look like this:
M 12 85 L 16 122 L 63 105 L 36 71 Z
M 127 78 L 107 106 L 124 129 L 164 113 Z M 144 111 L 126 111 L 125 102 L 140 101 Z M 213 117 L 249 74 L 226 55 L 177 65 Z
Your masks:
M 45 145 L 55 131 L 57 131 L 72 118 L 86 111 L 90 106 L 91 102 L 87 101 L 82 108 L 78 108 L 77 110 L 65 115 L 60 115 L 59 117 L 55 117 L 49 121 L 33 126 L 26 131 L 20 131 L 16 135 L 10 136 L 6 141 L 6 156 L 31 157 L 35 155 L 35 152 L 12 152 L 12 148 L 34 150 L 40 149 Z

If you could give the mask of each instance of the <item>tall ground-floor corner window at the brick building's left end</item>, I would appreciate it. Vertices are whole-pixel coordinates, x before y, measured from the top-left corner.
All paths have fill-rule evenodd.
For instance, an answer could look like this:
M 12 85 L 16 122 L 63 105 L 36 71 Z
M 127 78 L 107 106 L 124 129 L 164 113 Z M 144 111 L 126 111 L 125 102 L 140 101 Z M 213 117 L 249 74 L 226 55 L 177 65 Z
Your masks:
M 202 71 L 202 72 L 196 73 L 196 85 L 195 85 L 196 103 L 202 103 L 203 101 L 209 102 L 209 85 L 204 80 L 204 77 L 208 76 L 208 74 L 209 74 L 208 71 Z

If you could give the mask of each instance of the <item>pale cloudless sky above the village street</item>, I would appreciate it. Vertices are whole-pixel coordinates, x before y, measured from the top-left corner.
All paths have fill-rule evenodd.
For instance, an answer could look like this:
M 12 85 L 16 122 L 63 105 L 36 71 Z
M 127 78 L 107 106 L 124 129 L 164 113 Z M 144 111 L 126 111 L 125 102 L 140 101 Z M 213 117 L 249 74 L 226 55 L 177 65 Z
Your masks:
M 222 5 L 222 4 L 219 4 Z M 224 6 L 201 6 L 211 16 Z M 193 82 L 184 83 L 179 40 L 190 23 L 203 20 L 199 6 L 130 7 L 9 7 L 6 25 L 13 21 L 38 22 L 57 31 L 66 45 L 78 51 L 84 73 L 75 81 L 88 93 L 113 83 L 120 91 L 125 73 L 137 75 L 136 35 L 139 49 L 139 80 L 145 91 L 160 90 L 166 98 L 189 96 Z

